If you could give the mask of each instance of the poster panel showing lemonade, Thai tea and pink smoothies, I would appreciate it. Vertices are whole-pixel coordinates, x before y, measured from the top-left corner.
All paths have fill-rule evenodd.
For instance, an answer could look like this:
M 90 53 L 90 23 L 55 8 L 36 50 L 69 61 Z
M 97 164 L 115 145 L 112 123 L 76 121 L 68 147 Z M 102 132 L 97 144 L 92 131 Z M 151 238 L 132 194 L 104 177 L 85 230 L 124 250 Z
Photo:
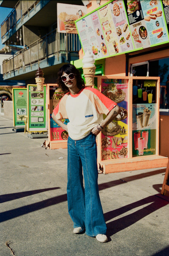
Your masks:
M 132 155 L 156 155 L 157 80 L 133 80 Z

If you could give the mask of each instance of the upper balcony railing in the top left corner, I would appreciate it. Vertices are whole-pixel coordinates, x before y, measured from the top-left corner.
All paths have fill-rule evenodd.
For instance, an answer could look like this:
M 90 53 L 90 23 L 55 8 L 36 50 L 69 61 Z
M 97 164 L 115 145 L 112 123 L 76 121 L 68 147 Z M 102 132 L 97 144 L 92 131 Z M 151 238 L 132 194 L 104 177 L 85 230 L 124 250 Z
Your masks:
M 18 1 L 13 10 L 7 16 L 5 21 L 1 24 L 1 39 L 3 39 L 14 26 L 17 27 L 19 22 L 22 22 L 25 15 L 29 16 L 30 11 L 35 10 L 36 5 L 38 4 L 37 0 L 34 1 Z

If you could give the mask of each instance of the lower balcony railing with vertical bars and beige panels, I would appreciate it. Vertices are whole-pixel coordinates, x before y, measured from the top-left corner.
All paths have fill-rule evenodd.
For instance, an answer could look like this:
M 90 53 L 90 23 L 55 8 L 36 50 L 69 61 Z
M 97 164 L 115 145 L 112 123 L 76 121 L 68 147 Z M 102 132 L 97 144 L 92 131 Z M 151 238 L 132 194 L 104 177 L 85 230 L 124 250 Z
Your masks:
M 68 53 L 78 54 L 81 49 L 81 44 L 78 34 L 58 33 L 57 29 L 40 38 L 39 40 L 26 46 L 21 51 L 15 53 L 10 58 L 3 61 L 3 74 L 8 74 L 12 71 L 23 69 L 26 66 L 31 66 L 33 63 L 39 64 L 43 59 L 59 56 L 63 53 L 68 60 Z

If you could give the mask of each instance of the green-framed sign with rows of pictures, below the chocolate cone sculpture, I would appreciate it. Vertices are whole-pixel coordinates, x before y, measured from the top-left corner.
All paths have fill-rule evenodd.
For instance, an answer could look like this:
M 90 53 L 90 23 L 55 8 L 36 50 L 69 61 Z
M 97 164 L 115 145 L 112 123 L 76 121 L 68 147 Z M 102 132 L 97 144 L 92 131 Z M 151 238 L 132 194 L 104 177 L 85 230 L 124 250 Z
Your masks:
M 43 86 L 43 91 L 37 91 L 36 85 L 28 85 L 27 88 L 29 96 L 28 130 L 47 131 L 46 86 Z

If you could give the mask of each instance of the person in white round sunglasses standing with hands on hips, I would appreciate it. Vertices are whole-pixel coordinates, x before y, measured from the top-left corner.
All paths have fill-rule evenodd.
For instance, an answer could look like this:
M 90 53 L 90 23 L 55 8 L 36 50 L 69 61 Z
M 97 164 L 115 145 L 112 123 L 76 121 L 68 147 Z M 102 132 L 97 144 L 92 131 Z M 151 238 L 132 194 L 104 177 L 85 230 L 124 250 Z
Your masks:
M 73 232 L 86 229 L 87 235 L 106 242 L 98 189 L 96 135 L 114 120 L 120 108 L 97 89 L 85 87 L 79 70 L 72 64 L 60 68 L 57 82 L 63 91 L 69 91 L 54 109 L 52 118 L 69 134 L 67 198 Z M 104 120 L 102 114 L 107 115 Z M 65 118 L 69 119 L 68 125 L 61 121 Z

